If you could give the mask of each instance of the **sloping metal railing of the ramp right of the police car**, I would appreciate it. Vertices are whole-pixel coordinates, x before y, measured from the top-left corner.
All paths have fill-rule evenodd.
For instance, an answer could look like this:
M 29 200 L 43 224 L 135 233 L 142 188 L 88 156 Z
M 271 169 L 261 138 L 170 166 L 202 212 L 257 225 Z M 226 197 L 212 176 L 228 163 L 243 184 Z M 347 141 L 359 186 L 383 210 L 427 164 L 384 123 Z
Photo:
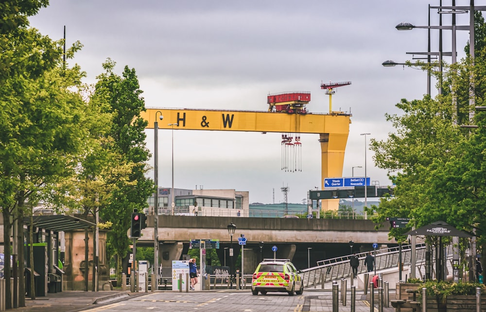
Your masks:
M 417 267 L 422 269 L 422 263 L 425 262 L 425 243 L 417 244 L 416 251 Z M 358 274 L 367 272 L 363 261 L 366 254 L 367 253 L 356 254 L 360 260 Z M 402 246 L 401 257 L 401 262 L 404 265 L 409 265 L 411 263 L 411 245 Z M 304 287 L 315 287 L 321 283 L 351 277 L 352 270 L 349 265 L 349 259 L 350 256 L 321 260 L 317 261 L 316 267 L 302 270 L 301 276 L 304 281 Z M 399 263 L 399 247 L 377 250 L 375 261 L 377 271 L 397 267 Z

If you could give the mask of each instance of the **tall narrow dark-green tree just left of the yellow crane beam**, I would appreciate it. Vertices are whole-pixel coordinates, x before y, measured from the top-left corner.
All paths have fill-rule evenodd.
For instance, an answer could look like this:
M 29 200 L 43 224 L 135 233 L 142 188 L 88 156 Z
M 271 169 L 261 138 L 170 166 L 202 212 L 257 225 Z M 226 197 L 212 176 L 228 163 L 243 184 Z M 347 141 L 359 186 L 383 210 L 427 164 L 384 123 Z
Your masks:
M 145 147 L 147 121 L 140 118 L 145 102 L 137 75 L 135 69 L 127 66 L 121 76 L 117 75 L 113 71 L 115 65 L 110 59 L 103 64 L 105 72 L 97 77 L 93 99 L 108 104 L 113 114 L 108 132 L 113 139 L 110 148 L 121 155 L 121 162 L 131 166 L 127 181 L 132 183 L 120 183 L 111 202 L 100 210 L 104 220 L 113 222 L 108 233 L 108 248 L 117 258 L 117 277 L 121 281 L 121 260 L 127 255 L 130 244 L 127 237 L 130 216 L 134 209 L 143 211 L 148 207 L 147 198 L 154 192 L 154 182 L 145 176 L 150 154 Z

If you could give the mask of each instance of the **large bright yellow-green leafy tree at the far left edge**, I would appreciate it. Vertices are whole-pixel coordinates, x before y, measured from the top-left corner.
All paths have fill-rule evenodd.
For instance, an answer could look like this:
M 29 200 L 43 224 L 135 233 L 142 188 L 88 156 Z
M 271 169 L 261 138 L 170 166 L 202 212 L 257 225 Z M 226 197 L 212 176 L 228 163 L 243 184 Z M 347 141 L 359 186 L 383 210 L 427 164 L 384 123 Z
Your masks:
M 10 64 L 0 78 L 0 207 L 8 238 L 10 216 L 22 229 L 23 217 L 32 214 L 37 200 L 72 174 L 86 130 L 82 126 L 84 102 L 77 92 L 83 73 L 77 67 L 62 69 L 62 42 L 34 29 L 17 29 L 5 38 L 2 51 Z M 78 48 L 78 44 L 73 46 L 68 57 Z M 1 62 L 5 65 L 3 58 Z M 22 230 L 14 243 L 23 246 Z M 18 272 L 24 271 L 23 250 L 18 248 Z M 10 257 L 8 248 L 5 255 Z M 10 278 L 9 266 L 6 261 L 6 278 Z M 20 307 L 25 306 L 24 285 L 24 275 L 19 274 Z M 12 304 L 10 294 L 7 286 L 7 307 Z

